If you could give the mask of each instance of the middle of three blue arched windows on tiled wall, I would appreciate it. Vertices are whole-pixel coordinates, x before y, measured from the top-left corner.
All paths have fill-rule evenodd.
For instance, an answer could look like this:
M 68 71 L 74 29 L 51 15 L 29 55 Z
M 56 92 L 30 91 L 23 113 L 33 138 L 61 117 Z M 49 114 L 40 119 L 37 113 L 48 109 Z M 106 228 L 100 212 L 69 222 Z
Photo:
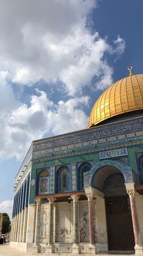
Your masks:
M 58 192 L 66 192 L 70 188 L 70 173 L 67 167 L 62 167 L 58 171 Z

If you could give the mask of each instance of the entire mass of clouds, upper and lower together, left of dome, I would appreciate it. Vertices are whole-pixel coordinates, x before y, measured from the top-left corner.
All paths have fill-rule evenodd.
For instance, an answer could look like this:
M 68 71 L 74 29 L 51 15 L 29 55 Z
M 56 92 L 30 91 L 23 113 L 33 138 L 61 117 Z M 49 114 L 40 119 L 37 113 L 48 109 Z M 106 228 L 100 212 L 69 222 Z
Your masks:
M 125 50 L 120 36 L 110 45 L 108 38 L 91 31 L 88 19 L 97 4 L 0 0 L 0 158 L 21 158 L 32 140 L 87 127 L 84 107 L 90 89 L 103 90 L 112 83 L 113 68 L 106 56 L 117 60 Z M 15 87 L 34 88 L 39 80 L 50 85 L 53 94 L 60 82 L 67 98 L 52 101 L 48 91 L 39 89 L 28 103 L 16 97 Z

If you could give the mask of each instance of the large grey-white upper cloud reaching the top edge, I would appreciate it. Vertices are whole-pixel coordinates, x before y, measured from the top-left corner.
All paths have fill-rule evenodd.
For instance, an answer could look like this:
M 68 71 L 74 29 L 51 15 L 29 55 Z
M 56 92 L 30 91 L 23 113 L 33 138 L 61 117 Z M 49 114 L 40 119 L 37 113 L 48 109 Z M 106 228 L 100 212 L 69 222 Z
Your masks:
M 96 5 L 96 0 L 0 0 L 0 60 L 12 81 L 32 85 L 39 79 L 60 79 L 70 95 L 82 93 L 93 76 L 101 87 L 100 77 L 110 77 L 110 82 L 105 52 L 119 57 L 125 42 L 118 37 L 113 48 L 98 32 L 90 33 L 87 15 Z

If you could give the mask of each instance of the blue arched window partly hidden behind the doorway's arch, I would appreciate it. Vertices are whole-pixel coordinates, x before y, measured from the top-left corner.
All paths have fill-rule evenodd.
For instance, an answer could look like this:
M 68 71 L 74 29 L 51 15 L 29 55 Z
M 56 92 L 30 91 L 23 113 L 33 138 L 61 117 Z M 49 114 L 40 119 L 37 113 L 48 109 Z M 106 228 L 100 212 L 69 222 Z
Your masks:
M 92 166 L 90 163 L 82 163 L 79 166 L 78 174 L 79 174 L 79 190 L 84 190 L 84 173 L 90 171 Z

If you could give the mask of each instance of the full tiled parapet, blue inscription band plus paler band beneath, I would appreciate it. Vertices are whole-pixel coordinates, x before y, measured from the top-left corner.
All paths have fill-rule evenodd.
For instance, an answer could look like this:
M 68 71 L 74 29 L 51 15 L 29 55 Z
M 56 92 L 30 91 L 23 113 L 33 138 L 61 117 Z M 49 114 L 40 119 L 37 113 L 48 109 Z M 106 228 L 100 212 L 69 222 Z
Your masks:
M 39 154 L 44 154 L 42 150 L 47 149 L 47 153 L 50 148 L 54 148 L 55 152 L 65 150 L 62 146 L 67 146 L 67 149 L 79 148 L 87 144 L 105 143 L 115 140 L 122 140 L 125 138 L 133 138 L 142 135 L 143 122 L 142 117 L 131 121 L 124 121 L 124 123 L 108 124 L 103 127 L 95 127 L 93 129 L 81 130 L 78 132 L 67 133 L 65 135 L 59 135 L 45 140 L 39 140 L 33 142 L 33 157 L 36 155 L 36 151 L 40 151 Z M 124 133 L 124 134 L 122 134 Z M 118 136 L 115 136 L 118 135 Z M 120 137 L 119 137 L 120 135 Z M 107 138 L 105 138 L 107 137 Z M 112 138 L 112 140 L 110 139 Z M 94 143 L 93 143 L 94 141 Z M 74 143 L 74 144 L 73 144 Z M 61 147 L 59 146 L 61 145 Z M 72 145 L 72 146 L 71 146 Z

